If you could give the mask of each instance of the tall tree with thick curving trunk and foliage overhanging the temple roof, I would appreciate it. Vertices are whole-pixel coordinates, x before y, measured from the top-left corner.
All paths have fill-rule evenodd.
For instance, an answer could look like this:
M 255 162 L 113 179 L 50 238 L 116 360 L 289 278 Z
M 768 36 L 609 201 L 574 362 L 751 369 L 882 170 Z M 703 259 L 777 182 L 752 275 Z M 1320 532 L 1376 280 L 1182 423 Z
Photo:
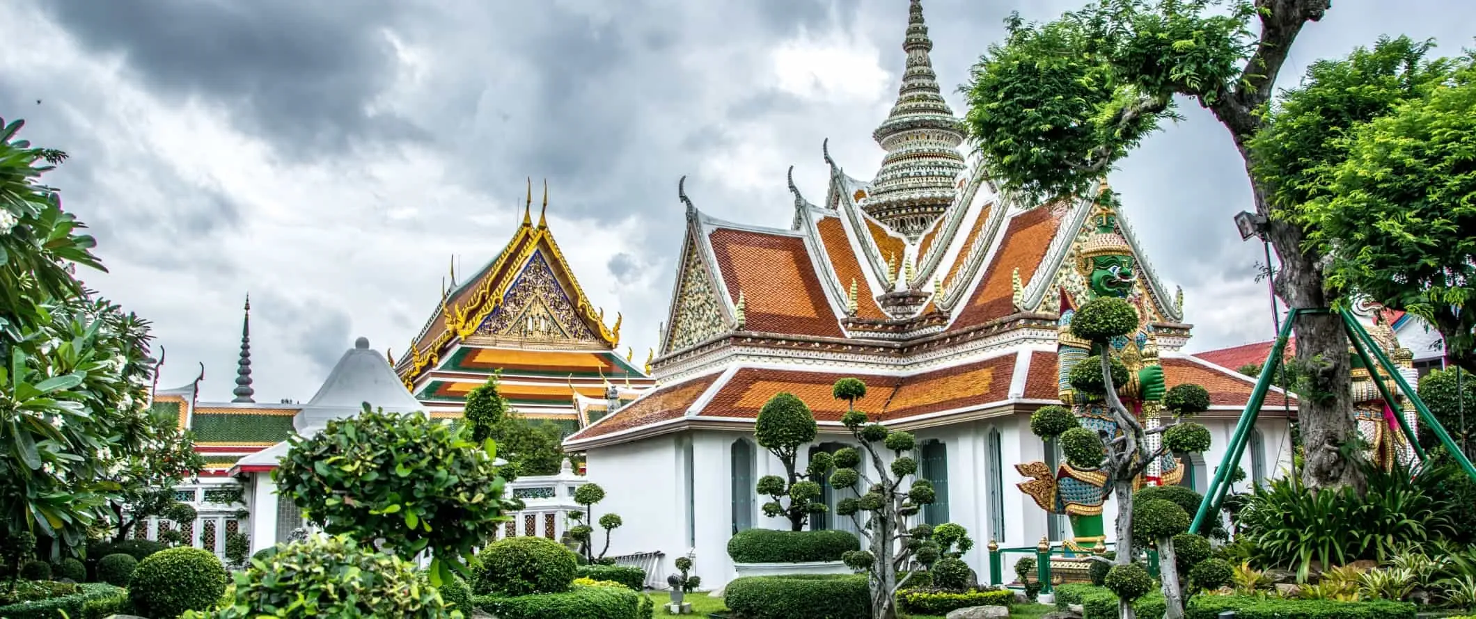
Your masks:
M 1001 190 L 1035 203 L 1097 196 L 1094 186 L 1165 119 L 1175 96 L 1207 109 L 1246 162 L 1256 212 L 1281 258 L 1275 289 L 1290 307 L 1325 308 L 1321 253 L 1284 217 L 1252 168 L 1250 140 L 1292 44 L 1330 0 L 1101 0 L 1046 24 L 1007 22 L 965 85 L 971 141 Z M 1259 34 L 1253 32 L 1259 28 Z M 1297 318 L 1297 364 L 1312 388 L 1299 399 L 1309 488 L 1361 485 L 1349 395 L 1348 338 L 1337 315 Z

